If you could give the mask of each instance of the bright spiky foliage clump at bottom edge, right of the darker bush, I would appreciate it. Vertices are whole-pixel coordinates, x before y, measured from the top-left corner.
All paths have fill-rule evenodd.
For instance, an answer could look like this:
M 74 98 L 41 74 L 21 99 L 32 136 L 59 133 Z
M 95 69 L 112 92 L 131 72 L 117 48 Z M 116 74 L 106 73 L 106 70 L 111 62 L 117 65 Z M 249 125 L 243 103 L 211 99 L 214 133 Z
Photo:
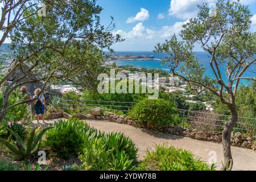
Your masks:
M 91 137 L 79 158 L 85 170 L 131 170 L 137 162 L 138 148 L 123 134 Z

